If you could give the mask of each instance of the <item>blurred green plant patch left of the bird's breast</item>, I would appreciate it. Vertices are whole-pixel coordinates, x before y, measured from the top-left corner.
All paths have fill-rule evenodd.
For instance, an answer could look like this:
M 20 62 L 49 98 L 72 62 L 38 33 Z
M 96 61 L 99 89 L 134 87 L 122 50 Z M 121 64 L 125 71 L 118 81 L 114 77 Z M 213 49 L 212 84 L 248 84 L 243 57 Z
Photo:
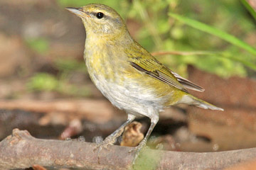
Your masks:
M 28 89 L 32 91 L 55 91 L 68 96 L 85 97 L 91 95 L 87 86 L 78 86 L 70 82 L 70 77 L 73 74 L 80 72 L 85 76 L 86 67 L 83 62 L 58 59 L 53 62 L 53 67 L 60 70 L 57 76 L 46 72 L 37 73 L 28 81 Z

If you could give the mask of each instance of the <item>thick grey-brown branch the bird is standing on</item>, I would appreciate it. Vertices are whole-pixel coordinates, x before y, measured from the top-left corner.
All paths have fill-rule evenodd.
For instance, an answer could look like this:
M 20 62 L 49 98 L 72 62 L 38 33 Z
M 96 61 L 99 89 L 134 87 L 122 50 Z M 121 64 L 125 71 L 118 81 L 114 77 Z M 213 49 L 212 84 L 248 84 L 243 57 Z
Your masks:
M 26 130 L 14 129 L 0 142 L 0 169 L 21 169 L 40 164 L 83 169 L 129 169 L 131 147 L 110 146 L 97 157 L 96 144 L 80 141 L 41 140 Z M 256 148 L 227 152 L 167 152 L 145 149 L 135 169 L 223 169 L 256 158 Z

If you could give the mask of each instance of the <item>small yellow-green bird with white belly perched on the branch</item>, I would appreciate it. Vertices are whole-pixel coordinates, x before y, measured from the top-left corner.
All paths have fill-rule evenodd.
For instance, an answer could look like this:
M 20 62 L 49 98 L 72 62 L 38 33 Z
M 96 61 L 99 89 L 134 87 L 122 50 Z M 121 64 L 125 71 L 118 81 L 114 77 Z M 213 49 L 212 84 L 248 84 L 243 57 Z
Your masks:
M 149 130 L 139 143 L 134 159 L 146 146 L 159 112 L 177 104 L 223 111 L 188 92 L 203 92 L 194 84 L 161 64 L 150 52 L 132 38 L 119 13 L 104 4 L 67 7 L 82 19 L 85 26 L 84 59 L 90 79 L 97 89 L 114 105 L 127 113 L 127 121 L 101 142 L 99 152 L 114 145 L 124 128 L 135 118 L 151 120 Z

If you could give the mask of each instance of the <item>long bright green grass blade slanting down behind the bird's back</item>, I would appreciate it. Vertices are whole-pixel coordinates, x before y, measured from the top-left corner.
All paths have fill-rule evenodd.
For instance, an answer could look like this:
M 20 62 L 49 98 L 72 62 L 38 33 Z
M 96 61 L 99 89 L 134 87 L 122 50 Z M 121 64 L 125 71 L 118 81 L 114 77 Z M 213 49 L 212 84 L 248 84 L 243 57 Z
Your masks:
M 241 47 L 244 50 L 247 50 L 247 52 L 252 53 L 253 55 L 256 55 L 256 48 L 248 45 L 247 43 L 243 42 L 242 40 L 239 40 L 233 35 L 230 35 L 228 33 L 225 33 L 223 30 L 218 30 L 217 28 L 213 28 L 212 26 L 208 26 L 205 23 L 201 23 L 199 21 L 195 21 L 190 18 L 186 18 L 183 16 L 180 16 L 175 13 L 169 13 L 169 16 L 175 18 L 178 21 L 181 21 L 182 23 L 186 23 L 188 26 L 191 26 L 193 28 L 196 28 L 198 30 L 202 30 L 203 32 L 209 33 L 211 35 L 215 35 L 218 38 L 221 38 L 227 42 L 230 42 L 231 44 Z

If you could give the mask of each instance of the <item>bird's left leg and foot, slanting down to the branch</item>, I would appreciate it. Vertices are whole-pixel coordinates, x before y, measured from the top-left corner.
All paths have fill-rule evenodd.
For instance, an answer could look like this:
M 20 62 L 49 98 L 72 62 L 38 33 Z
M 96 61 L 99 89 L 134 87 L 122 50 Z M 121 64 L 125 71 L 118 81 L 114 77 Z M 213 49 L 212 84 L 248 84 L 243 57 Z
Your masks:
M 98 154 L 100 153 L 100 151 L 102 150 L 102 148 L 106 148 L 108 145 L 113 145 L 114 142 L 116 141 L 117 137 L 119 137 L 120 135 L 122 135 L 122 132 L 124 132 L 124 128 L 125 126 L 129 125 L 130 123 L 132 123 L 132 121 L 135 119 L 135 115 L 132 114 L 128 114 L 128 118 L 127 121 L 122 124 L 117 130 L 115 130 L 114 132 L 112 132 L 111 135 L 109 135 L 108 137 L 105 138 L 105 140 L 103 142 L 100 143 L 100 145 L 97 145 L 97 147 L 95 147 L 95 149 L 99 148 L 98 150 Z

